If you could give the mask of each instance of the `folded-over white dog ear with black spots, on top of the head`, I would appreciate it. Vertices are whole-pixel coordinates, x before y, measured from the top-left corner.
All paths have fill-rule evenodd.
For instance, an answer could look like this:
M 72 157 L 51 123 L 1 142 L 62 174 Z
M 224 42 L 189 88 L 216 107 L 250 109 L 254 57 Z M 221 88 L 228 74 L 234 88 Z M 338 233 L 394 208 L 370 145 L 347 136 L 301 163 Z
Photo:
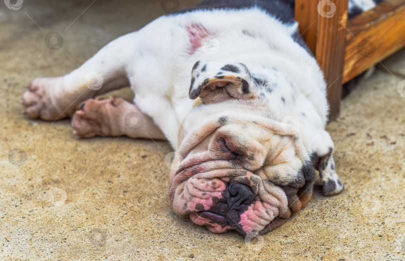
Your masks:
M 197 61 L 192 67 L 190 99 L 200 97 L 203 103 L 226 99 L 250 99 L 252 91 L 250 72 L 242 63 Z

